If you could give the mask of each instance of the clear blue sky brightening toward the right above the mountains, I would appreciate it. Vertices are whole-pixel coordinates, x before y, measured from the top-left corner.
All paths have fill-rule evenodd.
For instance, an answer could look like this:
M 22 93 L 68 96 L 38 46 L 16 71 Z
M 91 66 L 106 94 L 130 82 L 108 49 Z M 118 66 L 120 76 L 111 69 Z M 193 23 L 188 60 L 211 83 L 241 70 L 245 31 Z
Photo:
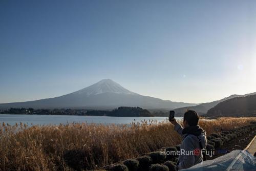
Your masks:
M 256 92 L 256 1 L 0 1 L 0 103 L 104 78 L 173 101 Z

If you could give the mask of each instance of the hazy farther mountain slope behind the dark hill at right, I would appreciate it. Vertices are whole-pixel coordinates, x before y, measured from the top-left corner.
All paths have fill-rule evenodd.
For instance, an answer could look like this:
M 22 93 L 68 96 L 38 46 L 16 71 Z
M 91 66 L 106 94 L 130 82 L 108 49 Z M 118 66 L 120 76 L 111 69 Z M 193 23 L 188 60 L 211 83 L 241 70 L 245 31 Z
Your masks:
M 245 95 L 231 95 L 228 97 L 225 97 L 221 100 L 216 100 L 216 101 L 212 101 L 212 102 L 208 102 L 208 103 L 201 103 L 199 105 L 195 105 L 195 106 L 186 106 L 183 108 L 178 108 L 175 109 L 175 115 L 176 116 L 183 116 L 183 114 L 186 112 L 186 110 L 190 109 L 190 110 L 195 110 L 199 115 L 204 115 L 207 113 L 207 111 L 211 108 L 213 108 L 214 106 L 216 106 L 218 103 L 226 101 L 228 99 L 232 99 L 232 98 L 236 98 L 236 97 L 244 97 L 244 96 L 249 96 L 249 95 L 254 95 L 255 93 L 250 93 L 250 94 L 245 94 Z

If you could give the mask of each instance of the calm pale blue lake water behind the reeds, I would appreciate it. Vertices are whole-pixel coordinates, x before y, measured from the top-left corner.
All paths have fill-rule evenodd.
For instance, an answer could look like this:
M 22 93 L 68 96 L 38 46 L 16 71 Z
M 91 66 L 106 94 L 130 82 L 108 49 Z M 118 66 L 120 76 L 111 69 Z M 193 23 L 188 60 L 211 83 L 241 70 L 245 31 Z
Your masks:
M 111 116 L 69 116 L 69 115 L 5 115 L 0 114 L 0 123 L 5 122 L 10 125 L 23 122 L 28 125 L 33 124 L 66 124 L 66 123 L 102 123 L 102 124 L 129 124 L 131 122 L 140 122 L 141 120 L 157 120 L 158 122 L 166 120 L 168 117 L 111 117 Z M 181 117 L 176 117 L 181 119 Z

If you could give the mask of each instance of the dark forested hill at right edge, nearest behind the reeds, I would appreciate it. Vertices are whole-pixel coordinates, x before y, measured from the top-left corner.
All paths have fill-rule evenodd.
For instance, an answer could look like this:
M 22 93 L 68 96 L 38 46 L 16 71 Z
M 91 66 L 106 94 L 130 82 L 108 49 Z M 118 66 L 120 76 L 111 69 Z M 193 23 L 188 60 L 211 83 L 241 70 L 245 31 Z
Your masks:
M 220 102 L 208 110 L 206 117 L 256 116 L 256 95 L 236 97 Z

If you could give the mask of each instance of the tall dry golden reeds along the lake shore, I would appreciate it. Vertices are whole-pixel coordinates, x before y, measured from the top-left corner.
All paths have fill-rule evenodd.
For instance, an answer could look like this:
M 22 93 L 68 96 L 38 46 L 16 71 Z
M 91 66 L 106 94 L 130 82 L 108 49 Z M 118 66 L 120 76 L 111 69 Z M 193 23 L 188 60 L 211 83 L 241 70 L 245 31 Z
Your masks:
M 201 120 L 200 126 L 211 134 L 251 121 L 255 122 L 256 118 Z M 90 169 L 181 142 L 172 124 L 150 122 L 132 126 L 82 123 L 30 127 L 22 123 L 14 126 L 3 123 L 0 126 L 0 170 L 72 170 L 65 159 L 82 160 Z

